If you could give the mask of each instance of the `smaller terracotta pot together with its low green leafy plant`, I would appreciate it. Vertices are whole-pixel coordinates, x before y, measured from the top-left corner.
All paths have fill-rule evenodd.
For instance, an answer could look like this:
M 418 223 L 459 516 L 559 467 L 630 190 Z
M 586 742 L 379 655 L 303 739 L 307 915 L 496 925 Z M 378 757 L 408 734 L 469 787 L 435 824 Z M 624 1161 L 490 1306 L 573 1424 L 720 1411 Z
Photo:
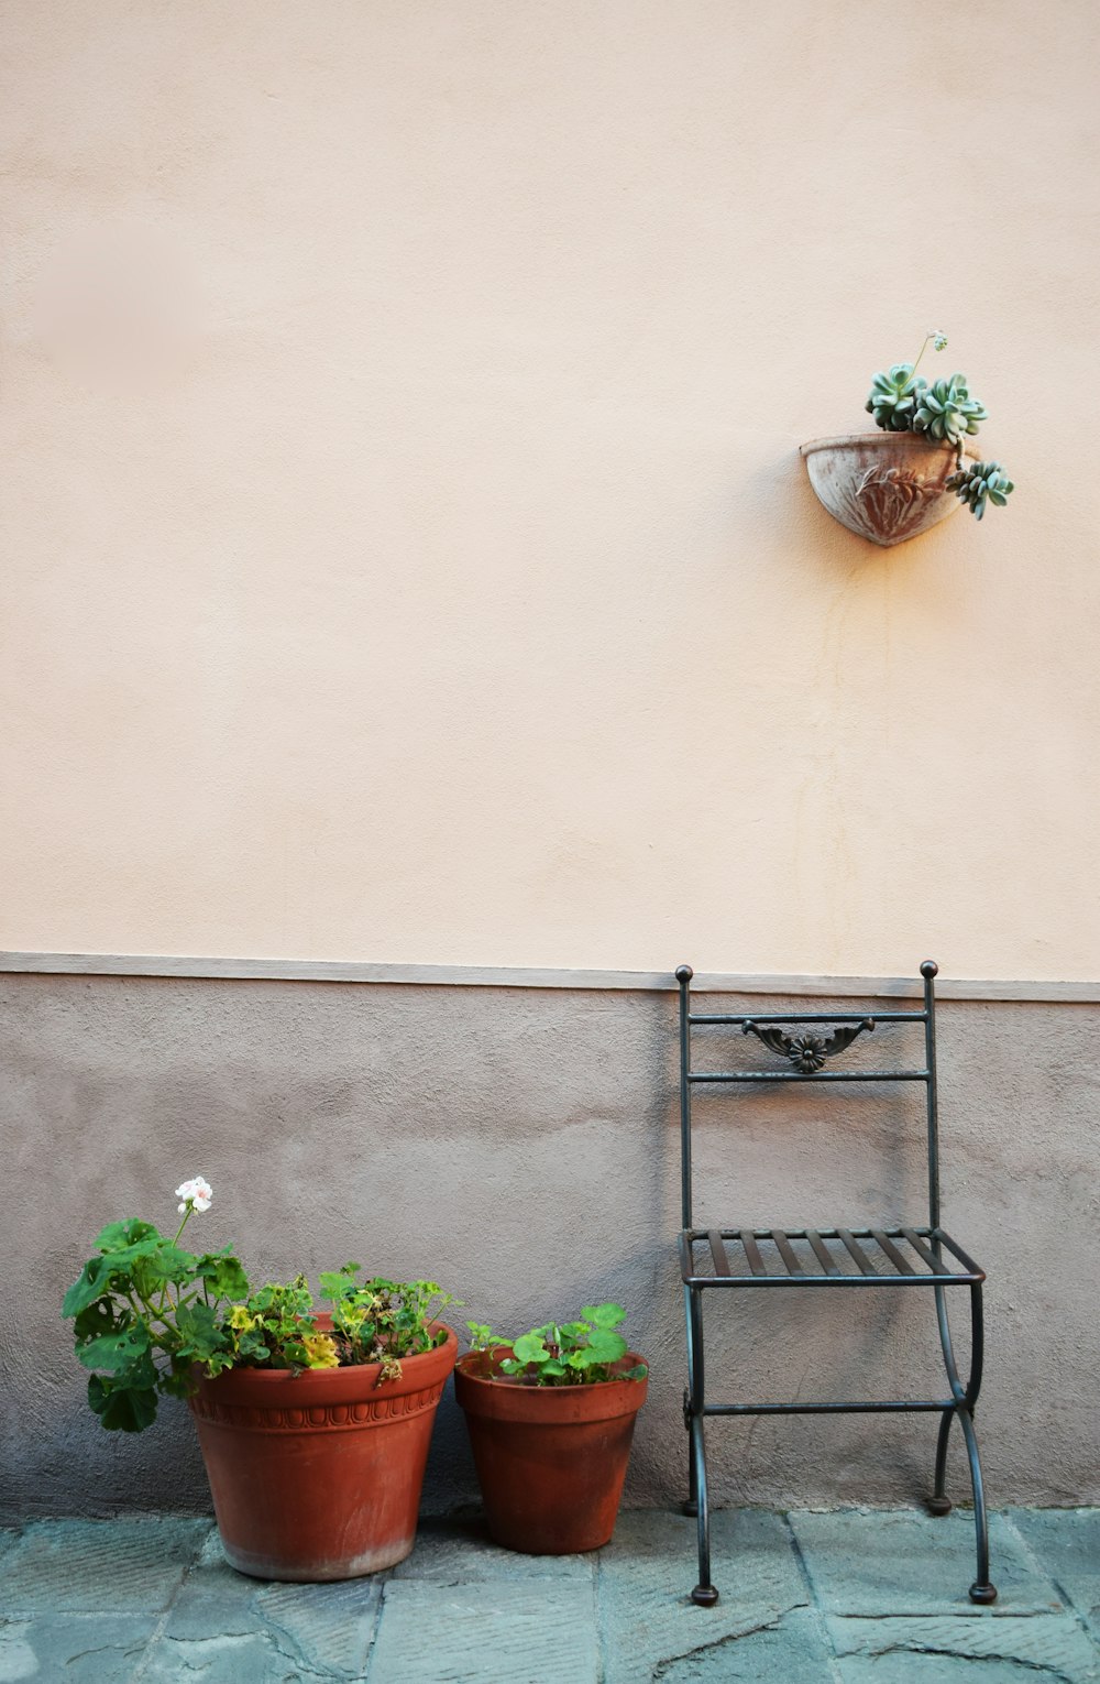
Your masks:
M 489 1532 L 526 1554 L 572 1554 L 611 1539 L 648 1367 L 617 1332 L 619 1303 L 587 1305 L 503 1339 L 468 1322 L 454 1371 Z

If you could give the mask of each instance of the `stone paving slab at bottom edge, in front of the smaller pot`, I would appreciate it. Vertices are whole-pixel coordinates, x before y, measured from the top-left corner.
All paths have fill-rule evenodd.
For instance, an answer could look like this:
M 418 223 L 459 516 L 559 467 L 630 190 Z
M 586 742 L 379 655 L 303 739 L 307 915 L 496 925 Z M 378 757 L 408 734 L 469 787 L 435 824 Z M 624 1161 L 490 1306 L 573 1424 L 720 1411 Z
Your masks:
M 592 1580 L 390 1580 L 368 1684 L 599 1684 Z

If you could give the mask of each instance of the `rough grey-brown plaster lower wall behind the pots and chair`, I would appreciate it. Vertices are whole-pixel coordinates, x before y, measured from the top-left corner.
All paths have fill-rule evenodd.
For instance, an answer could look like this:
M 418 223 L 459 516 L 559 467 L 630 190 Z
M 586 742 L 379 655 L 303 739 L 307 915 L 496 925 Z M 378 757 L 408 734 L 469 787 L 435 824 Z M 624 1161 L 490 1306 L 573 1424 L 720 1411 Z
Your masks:
M 627 1502 L 681 1494 L 671 994 L 8 975 L 0 1021 L 2 1517 L 209 1507 L 183 1406 L 104 1433 L 59 1315 L 99 1226 L 167 1228 L 193 1174 L 215 1189 L 202 1241 L 235 1241 L 254 1278 L 355 1258 L 505 1330 L 619 1298 L 653 1366 Z M 1090 1005 L 940 1005 L 944 1216 L 989 1271 L 994 1502 L 1100 1499 L 1098 1031 Z M 915 1090 L 880 1120 L 870 1091 L 819 1086 L 806 1111 L 789 1090 L 703 1095 L 696 1219 L 920 1216 Z M 730 1293 L 720 1325 L 727 1396 L 940 1394 L 925 1292 Z M 935 1418 L 718 1423 L 710 1443 L 718 1502 L 891 1502 L 927 1490 Z M 447 1394 L 424 1504 L 473 1492 Z

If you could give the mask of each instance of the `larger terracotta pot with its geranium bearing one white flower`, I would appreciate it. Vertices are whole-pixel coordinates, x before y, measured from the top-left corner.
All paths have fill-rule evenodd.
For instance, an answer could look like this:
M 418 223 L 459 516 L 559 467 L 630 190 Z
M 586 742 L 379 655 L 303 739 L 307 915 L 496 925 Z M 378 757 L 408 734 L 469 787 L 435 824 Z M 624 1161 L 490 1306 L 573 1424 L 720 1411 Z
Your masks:
M 177 1187 L 172 1239 L 111 1223 L 66 1293 L 87 1401 L 108 1430 L 141 1431 L 160 1396 L 198 1428 L 225 1556 L 272 1580 L 357 1578 L 415 1539 L 436 1404 L 457 1339 L 434 1282 L 360 1280 L 360 1266 L 252 1290 L 230 1246 L 180 1246 L 212 1192 Z

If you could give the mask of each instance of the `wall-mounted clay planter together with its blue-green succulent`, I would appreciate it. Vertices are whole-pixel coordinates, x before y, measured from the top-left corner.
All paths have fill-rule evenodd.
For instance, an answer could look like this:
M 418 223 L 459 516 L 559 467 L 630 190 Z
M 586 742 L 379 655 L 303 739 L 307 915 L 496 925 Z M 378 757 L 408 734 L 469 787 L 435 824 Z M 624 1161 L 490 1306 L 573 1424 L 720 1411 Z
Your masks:
M 871 381 L 865 408 L 880 433 L 802 445 L 821 504 L 849 532 L 885 547 L 927 532 L 960 504 L 981 520 L 989 504 L 1002 509 L 1013 492 L 1001 463 L 982 461 L 970 448 L 987 414 L 965 374 L 928 382 L 917 372 L 930 344 L 944 350 L 947 335 L 925 335 L 915 362 L 896 362 Z

